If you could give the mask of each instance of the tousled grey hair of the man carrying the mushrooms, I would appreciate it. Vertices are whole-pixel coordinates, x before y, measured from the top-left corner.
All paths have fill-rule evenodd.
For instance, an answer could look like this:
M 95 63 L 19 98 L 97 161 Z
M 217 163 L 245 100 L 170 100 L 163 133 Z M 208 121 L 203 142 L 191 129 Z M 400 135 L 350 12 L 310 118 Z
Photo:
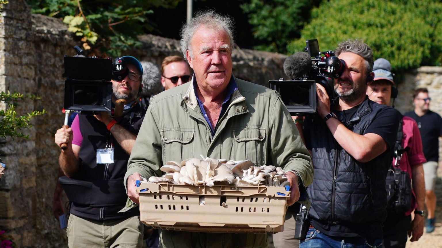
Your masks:
M 187 50 L 189 50 L 190 56 L 193 58 L 191 40 L 195 32 L 202 26 L 213 30 L 224 30 L 229 36 L 230 49 L 233 48 L 233 19 L 229 16 L 217 14 L 213 10 L 199 11 L 195 17 L 181 29 L 181 40 L 179 42 L 184 58 L 186 58 Z

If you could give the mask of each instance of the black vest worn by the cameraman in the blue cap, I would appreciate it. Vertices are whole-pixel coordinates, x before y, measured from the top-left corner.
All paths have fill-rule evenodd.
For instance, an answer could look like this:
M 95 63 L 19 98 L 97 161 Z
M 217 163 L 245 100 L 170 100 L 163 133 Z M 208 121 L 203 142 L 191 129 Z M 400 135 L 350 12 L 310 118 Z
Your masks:
M 134 105 L 118 124 L 126 130 L 138 134 L 145 110 L 138 104 Z M 134 208 L 125 213 L 117 213 L 126 205 L 127 195 L 123 184 L 127 171 L 127 161 L 130 154 L 120 146 L 115 138 L 107 131 L 106 125 L 94 116 L 79 115 L 80 131 L 83 141 L 80 147 L 80 168 L 75 179 L 92 182 L 95 189 L 84 197 L 90 197 L 91 204 L 72 203 L 71 213 L 81 218 L 94 220 L 125 219 L 139 215 L 139 209 Z M 114 163 L 96 163 L 97 149 L 105 148 L 107 144 L 114 147 Z

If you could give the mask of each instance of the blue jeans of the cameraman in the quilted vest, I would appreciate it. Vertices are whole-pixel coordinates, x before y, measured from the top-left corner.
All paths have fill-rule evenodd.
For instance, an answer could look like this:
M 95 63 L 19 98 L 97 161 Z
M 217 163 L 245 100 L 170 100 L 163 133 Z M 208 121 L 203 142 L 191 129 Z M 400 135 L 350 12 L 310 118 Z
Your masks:
M 305 240 L 299 248 L 378 248 L 382 246 L 382 238 L 364 237 L 331 237 L 309 228 Z

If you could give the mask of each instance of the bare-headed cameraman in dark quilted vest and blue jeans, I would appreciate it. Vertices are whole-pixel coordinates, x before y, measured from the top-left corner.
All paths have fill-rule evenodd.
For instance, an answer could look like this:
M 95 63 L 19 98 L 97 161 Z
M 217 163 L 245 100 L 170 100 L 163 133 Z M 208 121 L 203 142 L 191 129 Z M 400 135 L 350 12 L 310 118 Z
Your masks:
M 315 173 L 308 187 L 310 228 L 300 247 L 380 247 L 385 176 L 399 116 L 366 95 L 373 81 L 373 53 L 367 44 L 343 41 L 335 53 L 347 64 L 334 79 L 339 101 L 331 106 L 325 88 L 316 84 L 318 114 L 304 121 Z

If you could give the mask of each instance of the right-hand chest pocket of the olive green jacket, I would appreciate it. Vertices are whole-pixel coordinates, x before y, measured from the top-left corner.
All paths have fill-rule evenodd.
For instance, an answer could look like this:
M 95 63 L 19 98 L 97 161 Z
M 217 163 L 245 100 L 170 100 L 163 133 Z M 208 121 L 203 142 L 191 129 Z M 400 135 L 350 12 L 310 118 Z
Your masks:
M 242 128 L 233 130 L 235 159 L 249 159 L 255 165 L 267 162 L 267 139 L 265 128 Z M 244 157 L 245 156 L 245 157 Z

